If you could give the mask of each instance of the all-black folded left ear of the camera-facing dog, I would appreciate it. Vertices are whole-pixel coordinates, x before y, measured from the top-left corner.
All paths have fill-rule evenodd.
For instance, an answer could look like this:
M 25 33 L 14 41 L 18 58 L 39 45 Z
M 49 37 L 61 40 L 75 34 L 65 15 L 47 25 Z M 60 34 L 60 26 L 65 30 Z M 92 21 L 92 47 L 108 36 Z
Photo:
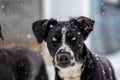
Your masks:
M 33 22 L 32 30 L 38 43 L 41 43 L 43 40 L 46 39 L 47 33 L 51 27 L 50 25 L 53 25 L 55 22 L 57 21 L 54 19 L 44 19 Z

